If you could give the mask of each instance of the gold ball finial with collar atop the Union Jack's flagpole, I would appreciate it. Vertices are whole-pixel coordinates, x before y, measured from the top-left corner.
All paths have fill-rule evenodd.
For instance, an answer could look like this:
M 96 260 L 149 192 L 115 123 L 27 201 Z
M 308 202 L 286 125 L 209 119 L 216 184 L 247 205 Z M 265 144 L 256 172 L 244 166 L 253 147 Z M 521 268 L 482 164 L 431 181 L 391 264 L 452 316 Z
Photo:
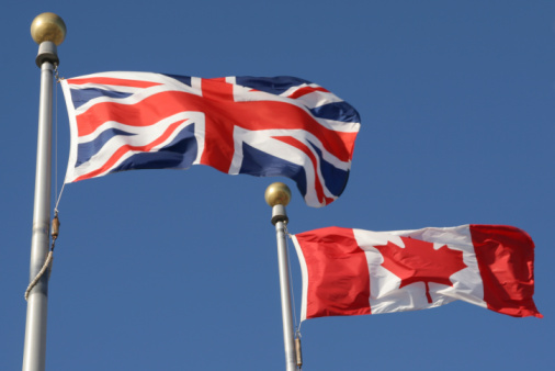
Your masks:
M 35 16 L 31 23 L 31 36 L 38 44 L 35 59 L 38 67 L 45 61 L 59 64 L 56 46 L 64 42 L 66 33 L 66 23 L 59 15 L 46 12 Z

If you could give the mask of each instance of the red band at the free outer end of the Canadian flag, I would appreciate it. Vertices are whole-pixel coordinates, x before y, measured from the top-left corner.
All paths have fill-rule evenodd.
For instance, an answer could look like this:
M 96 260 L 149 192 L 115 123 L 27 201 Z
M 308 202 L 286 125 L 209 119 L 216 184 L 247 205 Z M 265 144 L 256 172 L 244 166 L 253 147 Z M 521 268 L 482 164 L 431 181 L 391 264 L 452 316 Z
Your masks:
M 516 317 L 543 317 L 534 294 L 534 243 L 524 232 L 503 225 L 471 225 L 472 243 L 488 308 Z

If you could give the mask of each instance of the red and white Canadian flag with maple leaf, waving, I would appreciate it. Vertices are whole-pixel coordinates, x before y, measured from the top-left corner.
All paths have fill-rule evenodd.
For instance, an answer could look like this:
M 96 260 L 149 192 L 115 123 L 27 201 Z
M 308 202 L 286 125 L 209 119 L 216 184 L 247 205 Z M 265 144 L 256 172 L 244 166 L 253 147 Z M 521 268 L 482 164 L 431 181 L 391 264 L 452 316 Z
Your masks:
M 516 227 L 328 227 L 292 239 L 303 274 L 302 321 L 424 310 L 455 300 L 543 317 L 532 300 L 534 243 Z

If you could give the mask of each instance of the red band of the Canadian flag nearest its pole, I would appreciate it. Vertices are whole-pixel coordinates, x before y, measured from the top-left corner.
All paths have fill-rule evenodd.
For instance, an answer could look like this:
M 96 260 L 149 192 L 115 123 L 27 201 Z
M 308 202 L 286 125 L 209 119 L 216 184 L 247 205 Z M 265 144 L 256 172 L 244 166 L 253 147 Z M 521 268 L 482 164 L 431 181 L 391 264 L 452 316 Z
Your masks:
M 306 318 L 371 314 L 370 273 L 353 229 L 295 235 L 307 266 Z

